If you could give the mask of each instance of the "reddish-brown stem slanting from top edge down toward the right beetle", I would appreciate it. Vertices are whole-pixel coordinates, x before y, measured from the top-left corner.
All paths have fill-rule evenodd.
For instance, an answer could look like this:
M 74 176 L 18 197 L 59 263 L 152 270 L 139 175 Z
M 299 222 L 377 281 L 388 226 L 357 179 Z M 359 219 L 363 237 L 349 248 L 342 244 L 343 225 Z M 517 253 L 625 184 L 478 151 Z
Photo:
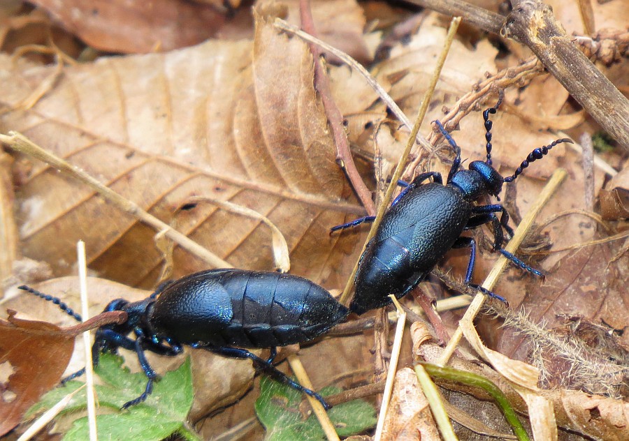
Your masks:
M 317 32 L 315 31 L 315 23 L 312 21 L 310 1 L 300 0 L 299 12 L 303 30 L 316 37 Z M 326 117 L 328 117 L 328 124 L 330 124 L 334 136 L 336 162 L 345 170 L 347 178 L 352 184 L 354 191 L 356 191 L 356 195 L 358 195 L 361 200 L 363 207 L 367 210 L 367 214 L 373 216 L 375 207 L 371 199 L 371 192 L 365 185 L 358 170 L 356 170 L 354 158 L 352 158 L 352 151 L 349 150 L 347 134 L 343 126 L 343 116 L 332 98 L 328 75 L 326 75 L 323 63 L 321 63 L 321 50 L 319 50 L 319 46 L 315 45 L 315 43 L 308 43 L 308 47 L 310 47 L 310 53 L 312 53 L 312 60 L 315 62 L 315 89 L 319 92 L 321 103 L 323 103 L 326 111 Z

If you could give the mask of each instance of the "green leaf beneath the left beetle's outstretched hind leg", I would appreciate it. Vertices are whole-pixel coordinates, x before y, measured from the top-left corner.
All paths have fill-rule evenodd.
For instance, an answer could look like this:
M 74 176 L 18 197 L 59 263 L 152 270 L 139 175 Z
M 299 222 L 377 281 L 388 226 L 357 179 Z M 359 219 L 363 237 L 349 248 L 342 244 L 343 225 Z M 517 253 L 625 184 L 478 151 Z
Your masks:
M 303 419 L 299 404 L 303 395 L 285 384 L 262 377 L 260 396 L 256 400 L 256 414 L 266 428 L 267 441 L 325 440 L 317 417 Z M 338 394 L 338 387 L 326 387 L 322 396 Z M 363 400 L 354 400 L 334 406 L 328 416 L 338 435 L 347 437 L 366 431 L 376 424 L 374 408 Z

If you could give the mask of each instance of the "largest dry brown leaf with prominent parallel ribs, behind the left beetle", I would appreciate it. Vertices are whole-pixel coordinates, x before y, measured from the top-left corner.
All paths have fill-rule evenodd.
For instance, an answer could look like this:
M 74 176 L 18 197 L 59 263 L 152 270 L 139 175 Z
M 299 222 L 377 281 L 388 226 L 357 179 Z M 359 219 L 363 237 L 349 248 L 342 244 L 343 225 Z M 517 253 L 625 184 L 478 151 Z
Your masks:
M 51 71 L 3 70 L 2 105 L 17 105 Z M 210 41 L 66 68 L 31 110 L 3 114 L 0 128 L 22 131 L 166 222 L 191 195 L 259 211 L 284 233 L 294 272 L 344 282 L 338 274 L 356 237 L 329 237 L 328 228 L 363 209 L 343 202 L 351 192 L 308 48 L 259 16 L 253 43 Z M 91 269 L 128 285 L 155 283 L 154 230 L 41 163 L 20 171 L 28 175 L 17 192 L 25 255 L 63 273 L 84 239 Z M 273 268 L 270 233 L 259 221 L 200 204 L 177 222 L 235 267 Z M 175 249 L 175 275 L 205 267 Z

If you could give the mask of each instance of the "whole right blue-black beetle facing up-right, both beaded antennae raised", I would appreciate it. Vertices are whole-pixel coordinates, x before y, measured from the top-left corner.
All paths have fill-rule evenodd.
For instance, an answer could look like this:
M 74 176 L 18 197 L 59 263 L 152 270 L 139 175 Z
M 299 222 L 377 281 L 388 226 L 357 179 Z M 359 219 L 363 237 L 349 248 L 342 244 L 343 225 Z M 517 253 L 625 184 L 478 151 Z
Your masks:
M 568 139 L 556 140 L 548 146 L 533 150 L 523 160 L 512 176 L 502 177 L 491 165 L 491 127 L 489 114 L 495 114 L 502 102 L 502 96 L 494 107 L 483 112 L 487 159 L 470 163 L 469 170 L 460 170 L 461 149 L 447 133 L 439 121 L 435 124 L 454 149 L 455 158 L 448 173 L 446 185 L 441 174 L 426 172 L 419 174 L 411 184 L 400 181 L 404 190 L 391 203 L 389 211 L 382 218 L 375 236 L 371 239 L 361 256 L 356 272 L 356 291 L 349 308 L 352 312 L 363 314 L 373 308 L 391 303 L 389 294 L 403 297 L 435 267 L 450 248 L 471 248 L 470 262 L 465 274 L 465 283 L 491 297 L 505 301 L 503 297 L 470 283 L 476 258 L 476 244 L 471 237 L 462 237 L 465 230 L 479 227 L 485 223 L 493 225 L 493 250 L 500 251 L 505 257 L 522 269 L 542 276 L 540 271 L 528 267 L 517 257 L 503 250 L 503 228 L 513 235 L 507 225 L 509 215 L 501 204 L 475 205 L 473 202 L 484 195 L 494 195 L 503 188 L 504 182 L 512 182 L 529 163 L 542 158 L 556 144 L 572 142 Z M 429 178 L 433 181 L 423 184 Z M 500 221 L 496 213 L 500 213 Z M 373 222 L 374 216 L 338 225 L 331 232 Z

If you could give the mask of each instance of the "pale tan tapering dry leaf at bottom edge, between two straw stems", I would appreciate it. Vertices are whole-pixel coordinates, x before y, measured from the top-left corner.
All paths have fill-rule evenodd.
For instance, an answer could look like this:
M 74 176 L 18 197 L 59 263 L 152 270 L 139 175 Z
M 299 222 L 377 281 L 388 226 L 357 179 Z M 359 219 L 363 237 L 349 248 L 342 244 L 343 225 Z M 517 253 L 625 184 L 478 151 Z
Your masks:
M 411 368 L 396 373 L 393 395 L 382 428 L 382 440 L 440 440 L 428 400 Z

